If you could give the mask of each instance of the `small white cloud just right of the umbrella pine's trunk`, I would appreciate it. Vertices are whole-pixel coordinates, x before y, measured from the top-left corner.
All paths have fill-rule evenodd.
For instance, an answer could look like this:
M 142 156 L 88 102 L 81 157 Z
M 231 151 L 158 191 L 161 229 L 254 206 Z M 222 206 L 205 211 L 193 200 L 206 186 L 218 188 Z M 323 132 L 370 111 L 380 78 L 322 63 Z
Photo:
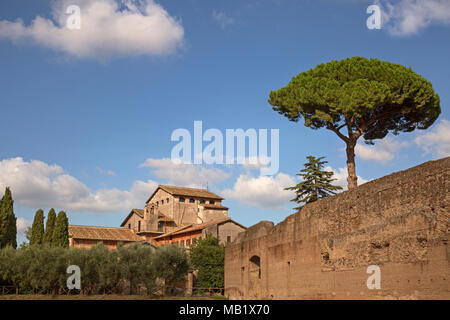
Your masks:
M 406 141 L 399 141 L 391 137 L 376 142 L 375 145 L 358 143 L 355 147 L 356 155 L 362 160 L 373 160 L 386 164 L 394 159 L 396 153 L 409 145 Z

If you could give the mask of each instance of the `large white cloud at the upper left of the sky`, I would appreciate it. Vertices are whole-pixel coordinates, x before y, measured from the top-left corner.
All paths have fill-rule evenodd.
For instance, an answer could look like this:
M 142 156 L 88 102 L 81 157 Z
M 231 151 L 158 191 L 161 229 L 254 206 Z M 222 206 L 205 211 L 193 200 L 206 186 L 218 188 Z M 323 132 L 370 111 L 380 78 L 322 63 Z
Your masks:
M 69 5 L 81 8 L 81 28 L 66 27 Z M 123 56 L 167 55 L 183 43 L 180 21 L 153 0 L 63 0 L 53 2 L 53 19 L 37 16 L 0 21 L 0 38 L 38 45 L 78 58 L 108 60 Z

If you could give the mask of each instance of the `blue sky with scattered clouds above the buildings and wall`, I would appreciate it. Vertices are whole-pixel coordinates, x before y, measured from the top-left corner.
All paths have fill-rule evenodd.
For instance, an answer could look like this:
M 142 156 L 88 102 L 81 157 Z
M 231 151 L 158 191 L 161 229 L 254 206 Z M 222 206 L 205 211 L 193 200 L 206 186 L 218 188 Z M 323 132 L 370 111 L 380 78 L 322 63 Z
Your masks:
M 283 187 L 305 157 L 326 156 L 342 183 L 345 152 L 331 132 L 272 111 L 268 94 L 319 63 L 352 56 L 411 67 L 431 81 L 442 107 L 425 132 L 361 147 L 358 176 L 450 153 L 449 1 L 377 1 L 380 30 L 366 27 L 374 1 L 142 1 L 132 18 L 154 29 L 136 31 L 140 20 L 131 20 L 120 36 L 114 28 L 126 3 L 93 27 L 96 2 L 114 9 L 112 0 L 0 2 L 0 187 L 11 186 L 21 219 L 55 207 L 72 224 L 118 226 L 157 183 L 207 181 L 244 225 L 281 221 L 293 207 Z M 69 4 L 81 7 L 75 38 L 58 22 L 68 16 L 58 8 Z M 163 13 L 155 23 L 146 6 Z M 36 17 L 52 25 L 33 25 Z M 223 132 L 279 129 L 279 175 L 238 165 L 174 168 L 166 161 L 171 133 L 192 131 L 194 120 Z

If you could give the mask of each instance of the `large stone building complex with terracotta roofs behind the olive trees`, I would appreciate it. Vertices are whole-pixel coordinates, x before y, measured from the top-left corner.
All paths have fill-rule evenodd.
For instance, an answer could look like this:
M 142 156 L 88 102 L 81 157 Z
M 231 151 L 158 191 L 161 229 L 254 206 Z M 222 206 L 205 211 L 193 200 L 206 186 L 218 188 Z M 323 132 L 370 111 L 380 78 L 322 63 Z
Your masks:
M 208 234 L 222 243 L 233 241 L 246 227 L 228 217 L 224 199 L 207 189 L 160 185 L 144 209 L 132 209 L 120 228 L 69 226 L 70 246 L 90 247 L 102 242 L 110 248 L 119 242 L 145 241 L 159 246 L 178 243 L 189 247 Z

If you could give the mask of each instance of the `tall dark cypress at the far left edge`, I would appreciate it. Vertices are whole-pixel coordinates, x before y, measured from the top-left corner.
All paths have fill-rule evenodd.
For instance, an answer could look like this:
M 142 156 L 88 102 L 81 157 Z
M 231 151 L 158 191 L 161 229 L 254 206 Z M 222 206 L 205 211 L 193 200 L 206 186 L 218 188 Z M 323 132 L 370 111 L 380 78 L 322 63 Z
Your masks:
M 11 190 L 6 187 L 5 194 L 0 201 L 0 248 L 6 246 L 17 247 L 17 226 L 14 215 L 14 200 Z

